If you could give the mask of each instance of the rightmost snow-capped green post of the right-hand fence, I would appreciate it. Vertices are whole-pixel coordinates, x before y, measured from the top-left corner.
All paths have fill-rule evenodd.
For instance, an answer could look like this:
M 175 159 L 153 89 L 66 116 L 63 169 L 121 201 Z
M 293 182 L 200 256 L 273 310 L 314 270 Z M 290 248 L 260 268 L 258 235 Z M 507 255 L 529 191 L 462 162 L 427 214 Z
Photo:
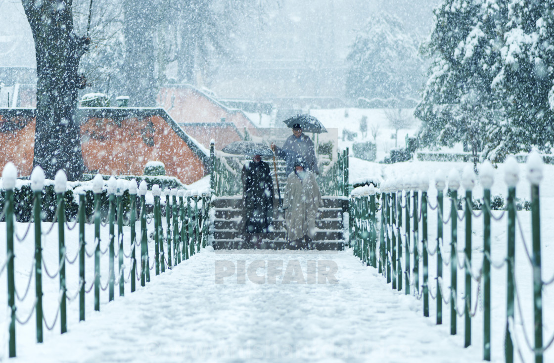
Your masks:
M 543 161 L 537 152 L 527 159 L 527 179 L 531 183 L 531 225 L 533 235 L 533 292 L 535 311 L 535 363 L 542 363 L 542 274 L 541 274 L 541 218 L 539 185 L 542 181 Z

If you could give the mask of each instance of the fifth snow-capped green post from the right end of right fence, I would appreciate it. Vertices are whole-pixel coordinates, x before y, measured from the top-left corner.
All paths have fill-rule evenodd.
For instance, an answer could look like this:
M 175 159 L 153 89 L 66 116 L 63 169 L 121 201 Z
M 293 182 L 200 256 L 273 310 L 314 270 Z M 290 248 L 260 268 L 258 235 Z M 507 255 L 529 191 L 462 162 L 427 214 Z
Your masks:
M 450 190 L 450 335 L 456 334 L 456 290 L 458 281 L 458 189 L 460 174 L 455 169 L 448 174 L 448 189 Z

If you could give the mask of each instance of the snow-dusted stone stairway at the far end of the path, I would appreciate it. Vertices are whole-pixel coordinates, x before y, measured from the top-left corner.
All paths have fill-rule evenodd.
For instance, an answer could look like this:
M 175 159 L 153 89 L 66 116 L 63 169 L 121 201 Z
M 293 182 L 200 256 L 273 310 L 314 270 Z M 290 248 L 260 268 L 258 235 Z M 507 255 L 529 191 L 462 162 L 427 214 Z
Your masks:
M 343 198 L 323 197 L 323 204 L 319 208 L 316 218 L 316 233 L 307 248 L 318 250 L 341 250 L 344 248 L 342 218 L 347 203 L 348 201 Z M 242 196 L 215 197 L 212 208 L 215 216 L 213 247 L 215 249 L 245 248 L 242 234 Z M 296 248 L 286 240 L 285 221 L 282 212 L 275 210 L 272 226 L 274 232 L 259 235 L 261 241 L 255 243 L 256 248 Z

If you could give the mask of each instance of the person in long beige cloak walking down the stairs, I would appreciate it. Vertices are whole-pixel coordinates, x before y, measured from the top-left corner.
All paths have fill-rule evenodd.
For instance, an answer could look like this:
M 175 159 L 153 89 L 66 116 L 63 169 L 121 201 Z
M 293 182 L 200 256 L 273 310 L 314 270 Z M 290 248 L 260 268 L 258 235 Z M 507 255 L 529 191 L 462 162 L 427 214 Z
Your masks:
M 315 174 L 306 170 L 304 160 L 296 159 L 294 171 L 286 179 L 283 200 L 286 229 L 294 247 L 309 243 L 315 234 L 315 218 L 321 205 L 321 192 Z

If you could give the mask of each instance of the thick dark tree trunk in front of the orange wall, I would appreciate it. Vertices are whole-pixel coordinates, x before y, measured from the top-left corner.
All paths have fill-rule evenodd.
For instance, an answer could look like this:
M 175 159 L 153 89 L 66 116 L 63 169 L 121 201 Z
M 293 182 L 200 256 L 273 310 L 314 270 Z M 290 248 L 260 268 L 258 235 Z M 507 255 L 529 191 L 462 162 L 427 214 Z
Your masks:
M 85 85 L 77 73 L 89 38 L 73 32 L 71 0 L 23 0 L 37 58 L 37 127 L 33 166 L 53 179 L 59 169 L 69 180 L 83 173 L 79 122 L 75 118 L 78 89 Z

